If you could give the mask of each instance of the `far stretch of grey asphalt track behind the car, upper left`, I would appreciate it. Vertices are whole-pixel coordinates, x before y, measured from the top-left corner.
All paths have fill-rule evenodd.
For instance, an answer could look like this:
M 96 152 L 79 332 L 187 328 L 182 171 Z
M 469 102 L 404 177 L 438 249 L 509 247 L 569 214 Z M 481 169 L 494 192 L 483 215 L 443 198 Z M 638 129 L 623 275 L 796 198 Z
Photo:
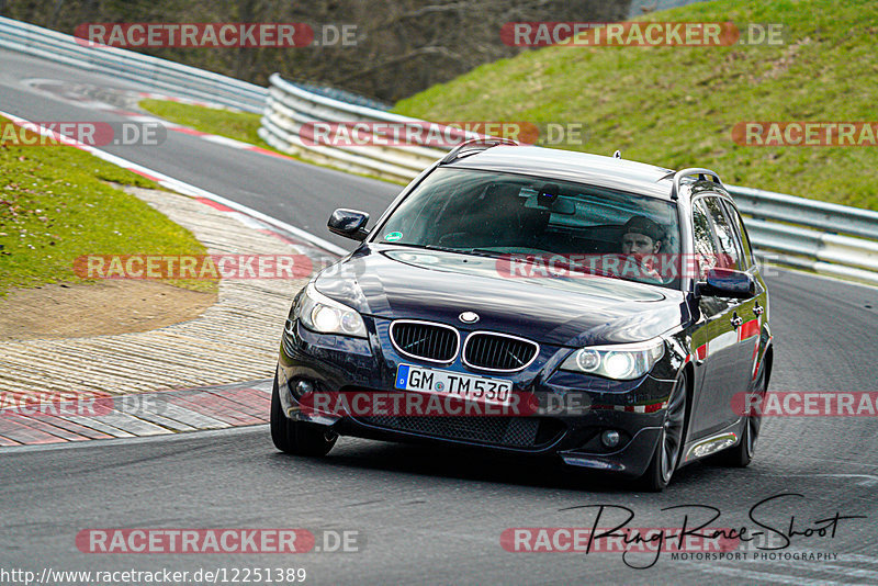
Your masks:
M 0 110 L 36 122 L 121 122 L 125 119 L 35 92 L 21 80 L 52 79 L 105 89 L 143 90 L 108 76 L 7 50 L 0 50 L 0 61 L 3 64 Z M 104 150 L 294 224 L 346 249 L 351 248 L 351 240 L 326 230 L 333 210 L 356 207 L 376 219 L 399 192 L 399 187 L 392 183 L 232 149 L 182 133 L 167 134 L 167 140 L 160 146 L 109 145 Z

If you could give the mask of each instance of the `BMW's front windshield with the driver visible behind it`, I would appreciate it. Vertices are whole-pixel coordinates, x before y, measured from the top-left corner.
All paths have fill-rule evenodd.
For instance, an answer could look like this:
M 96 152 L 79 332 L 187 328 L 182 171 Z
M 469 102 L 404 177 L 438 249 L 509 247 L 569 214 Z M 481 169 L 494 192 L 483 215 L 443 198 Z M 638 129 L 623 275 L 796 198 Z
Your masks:
M 554 179 L 437 169 L 373 241 L 508 257 L 521 275 L 679 284 L 673 203 Z

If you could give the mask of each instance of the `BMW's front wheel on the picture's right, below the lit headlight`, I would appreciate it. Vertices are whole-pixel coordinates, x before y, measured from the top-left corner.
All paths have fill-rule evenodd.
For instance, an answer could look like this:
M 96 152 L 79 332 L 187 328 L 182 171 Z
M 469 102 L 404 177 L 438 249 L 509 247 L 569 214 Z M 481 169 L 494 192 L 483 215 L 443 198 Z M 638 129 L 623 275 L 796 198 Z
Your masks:
M 677 376 L 671 398 L 665 408 L 662 432 L 652 454 L 652 460 L 646 472 L 638 478 L 637 484 L 641 491 L 661 493 L 671 482 L 674 471 L 679 465 L 683 453 L 683 443 L 686 438 L 686 373 Z

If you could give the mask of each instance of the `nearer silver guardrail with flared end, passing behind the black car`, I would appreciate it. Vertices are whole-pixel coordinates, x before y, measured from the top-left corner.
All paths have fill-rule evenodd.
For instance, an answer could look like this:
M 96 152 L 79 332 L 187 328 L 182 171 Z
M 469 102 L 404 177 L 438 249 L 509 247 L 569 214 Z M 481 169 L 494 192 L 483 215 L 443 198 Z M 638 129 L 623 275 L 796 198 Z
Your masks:
M 303 125 L 314 122 L 424 121 L 334 100 L 270 78 L 259 135 L 275 148 L 346 170 L 407 182 L 447 150 L 420 146 L 317 145 Z M 307 126 L 305 126 L 307 128 Z M 305 135 L 303 135 L 305 133 Z M 725 185 L 741 213 L 757 256 L 770 262 L 878 284 L 878 212 Z

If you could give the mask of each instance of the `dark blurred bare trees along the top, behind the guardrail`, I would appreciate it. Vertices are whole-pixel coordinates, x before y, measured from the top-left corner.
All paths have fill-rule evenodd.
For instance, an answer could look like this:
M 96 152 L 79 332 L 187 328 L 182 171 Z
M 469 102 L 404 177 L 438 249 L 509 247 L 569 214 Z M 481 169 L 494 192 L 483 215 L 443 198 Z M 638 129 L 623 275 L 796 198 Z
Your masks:
M 619 21 L 631 0 L 0 0 L 0 13 L 71 33 L 83 22 L 303 22 L 317 43 L 291 48 L 143 49 L 266 83 L 283 76 L 396 101 L 527 47 L 504 44 L 518 21 Z M 356 46 L 324 44 L 325 30 L 356 25 Z M 324 29 L 324 27 L 327 29 Z

